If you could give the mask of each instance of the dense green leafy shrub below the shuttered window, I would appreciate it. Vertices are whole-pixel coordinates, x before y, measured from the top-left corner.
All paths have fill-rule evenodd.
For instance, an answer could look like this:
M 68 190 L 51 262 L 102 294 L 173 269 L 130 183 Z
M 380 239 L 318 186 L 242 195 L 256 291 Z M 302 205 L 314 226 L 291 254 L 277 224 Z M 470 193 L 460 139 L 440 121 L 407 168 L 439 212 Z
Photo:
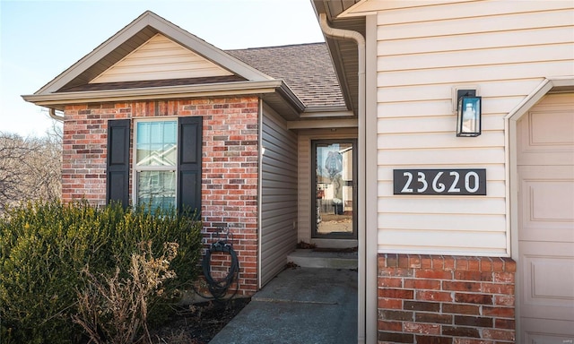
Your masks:
M 0 342 L 73 343 L 81 332 L 77 290 L 94 274 L 128 271 L 141 242 L 152 252 L 177 243 L 170 264 L 178 278 L 166 281 L 165 295 L 196 280 L 201 223 L 175 211 L 101 209 L 87 202 L 36 202 L 13 208 L 0 219 Z M 152 302 L 151 317 L 155 308 Z

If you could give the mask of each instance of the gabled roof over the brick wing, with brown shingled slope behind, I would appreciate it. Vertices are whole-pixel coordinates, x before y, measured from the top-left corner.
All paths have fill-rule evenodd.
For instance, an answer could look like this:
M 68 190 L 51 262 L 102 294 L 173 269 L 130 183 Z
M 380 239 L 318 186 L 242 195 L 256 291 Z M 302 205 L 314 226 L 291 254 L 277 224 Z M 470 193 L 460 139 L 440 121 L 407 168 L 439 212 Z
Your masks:
M 211 68 L 210 73 L 121 77 L 147 54 L 153 40 L 162 40 L 188 61 Z M 193 56 L 191 56 L 193 55 Z M 152 58 L 161 69 L 161 58 Z M 129 73 L 129 72 L 127 72 Z M 133 73 L 136 75 L 137 73 Z M 170 76 L 168 76 L 170 75 Z M 342 107 L 344 100 L 324 43 L 223 51 L 147 11 L 96 47 L 33 95 L 23 99 L 63 109 L 65 104 L 118 100 L 174 99 L 257 94 L 287 119 L 309 107 Z

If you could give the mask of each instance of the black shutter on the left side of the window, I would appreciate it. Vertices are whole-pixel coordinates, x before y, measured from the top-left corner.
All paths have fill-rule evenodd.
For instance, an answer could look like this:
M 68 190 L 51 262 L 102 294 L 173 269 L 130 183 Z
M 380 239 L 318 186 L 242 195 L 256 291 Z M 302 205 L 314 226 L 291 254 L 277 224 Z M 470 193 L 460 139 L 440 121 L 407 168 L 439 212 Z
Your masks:
M 130 120 L 108 121 L 108 163 L 106 202 L 129 205 L 129 142 Z

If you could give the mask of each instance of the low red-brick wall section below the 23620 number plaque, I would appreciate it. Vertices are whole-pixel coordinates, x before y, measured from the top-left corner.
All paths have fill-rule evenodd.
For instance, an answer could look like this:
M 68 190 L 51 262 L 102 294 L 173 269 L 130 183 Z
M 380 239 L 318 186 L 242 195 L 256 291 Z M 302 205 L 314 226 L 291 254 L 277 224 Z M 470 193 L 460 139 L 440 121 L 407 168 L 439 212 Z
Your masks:
M 515 340 L 509 258 L 378 255 L 378 343 Z

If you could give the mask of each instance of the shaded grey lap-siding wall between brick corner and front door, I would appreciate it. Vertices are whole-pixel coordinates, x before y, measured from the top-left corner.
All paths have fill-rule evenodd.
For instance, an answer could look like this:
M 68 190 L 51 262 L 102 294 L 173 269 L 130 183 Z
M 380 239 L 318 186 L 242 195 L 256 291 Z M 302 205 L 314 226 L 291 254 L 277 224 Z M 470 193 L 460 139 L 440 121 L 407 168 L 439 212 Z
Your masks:
M 297 136 L 264 107 L 261 164 L 261 286 L 284 269 L 297 245 Z

